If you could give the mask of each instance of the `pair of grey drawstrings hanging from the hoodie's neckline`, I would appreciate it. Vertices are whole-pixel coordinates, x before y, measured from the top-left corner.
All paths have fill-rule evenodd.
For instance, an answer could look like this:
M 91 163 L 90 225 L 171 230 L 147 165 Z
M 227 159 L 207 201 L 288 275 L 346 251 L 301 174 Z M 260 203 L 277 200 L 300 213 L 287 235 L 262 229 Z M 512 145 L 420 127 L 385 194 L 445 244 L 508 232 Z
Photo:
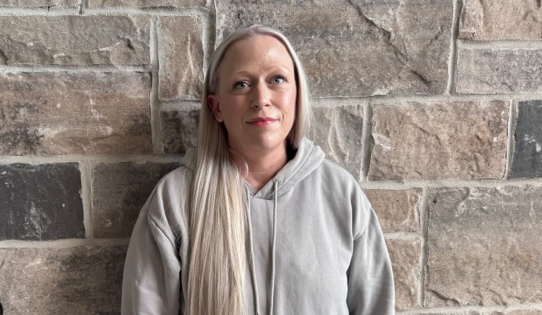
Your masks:
M 273 314 L 274 302 L 274 273 L 275 273 L 275 257 L 277 252 L 277 205 L 279 202 L 279 179 L 274 179 L 274 203 L 273 203 L 273 241 L 271 245 L 271 301 L 269 307 L 269 315 Z M 249 194 L 247 194 L 249 198 Z M 249 229 L 249 245 L 250 245 L 250 270 L 252 273 L 252 284 L 254 284 L 254 306 L 256 307 L 256 315 L 260 314 L 260 302 L 258 300 L 258 284 L 256 282 L 256 268 L 254 267 L 254 241 L 252 241 L 252 223 L 250 219 L 250 200 L 247 199 L 247 220 Z

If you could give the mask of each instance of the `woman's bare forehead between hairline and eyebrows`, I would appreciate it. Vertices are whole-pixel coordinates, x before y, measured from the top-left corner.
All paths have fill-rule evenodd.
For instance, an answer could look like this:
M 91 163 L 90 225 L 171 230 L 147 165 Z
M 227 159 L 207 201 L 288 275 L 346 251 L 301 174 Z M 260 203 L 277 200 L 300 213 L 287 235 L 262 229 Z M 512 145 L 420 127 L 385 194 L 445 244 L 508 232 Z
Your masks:
M 270 35 L 254 35 L 234 42 L 224 54 L 220 68 L 236 70 L 251 64 L 293 68 L 293 60 L 286 46 Z

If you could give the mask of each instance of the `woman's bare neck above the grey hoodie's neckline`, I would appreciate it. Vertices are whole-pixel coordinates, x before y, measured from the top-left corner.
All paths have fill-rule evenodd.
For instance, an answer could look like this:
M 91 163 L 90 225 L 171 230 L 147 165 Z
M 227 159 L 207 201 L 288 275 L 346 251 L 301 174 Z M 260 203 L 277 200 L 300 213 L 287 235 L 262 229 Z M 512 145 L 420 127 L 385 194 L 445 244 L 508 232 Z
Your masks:
M 286 143 L 284 147 L 271 152 L 257 151 L 246 154 L 245 152 L 234 151 L 231 153 L 231 158 L 242 174 L 245 174 L 246 166 L 248 166 L 248 174 L 245 174 L 245 180 L 256 190 L 260 190 L 288 163 Z M 245 162 L 247 165 L 245 165 Z

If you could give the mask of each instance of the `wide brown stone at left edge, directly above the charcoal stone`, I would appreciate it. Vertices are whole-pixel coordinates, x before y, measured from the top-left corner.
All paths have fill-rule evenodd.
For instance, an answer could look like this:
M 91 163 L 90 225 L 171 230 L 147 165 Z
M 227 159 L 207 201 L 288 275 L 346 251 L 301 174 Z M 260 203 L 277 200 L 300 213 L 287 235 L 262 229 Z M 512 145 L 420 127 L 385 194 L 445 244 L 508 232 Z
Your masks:
M 0 74 L 0 155 L 150 153 L 147 73 Z

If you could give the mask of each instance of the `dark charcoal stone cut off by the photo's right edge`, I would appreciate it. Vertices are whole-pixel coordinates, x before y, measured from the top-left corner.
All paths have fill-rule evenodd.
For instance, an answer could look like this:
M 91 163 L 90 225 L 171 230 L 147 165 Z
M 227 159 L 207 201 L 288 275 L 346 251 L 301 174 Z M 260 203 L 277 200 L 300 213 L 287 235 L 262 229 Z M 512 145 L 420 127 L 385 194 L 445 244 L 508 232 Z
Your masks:
M 510 177 L 542 177 L 542 100 L 519 102 Z

